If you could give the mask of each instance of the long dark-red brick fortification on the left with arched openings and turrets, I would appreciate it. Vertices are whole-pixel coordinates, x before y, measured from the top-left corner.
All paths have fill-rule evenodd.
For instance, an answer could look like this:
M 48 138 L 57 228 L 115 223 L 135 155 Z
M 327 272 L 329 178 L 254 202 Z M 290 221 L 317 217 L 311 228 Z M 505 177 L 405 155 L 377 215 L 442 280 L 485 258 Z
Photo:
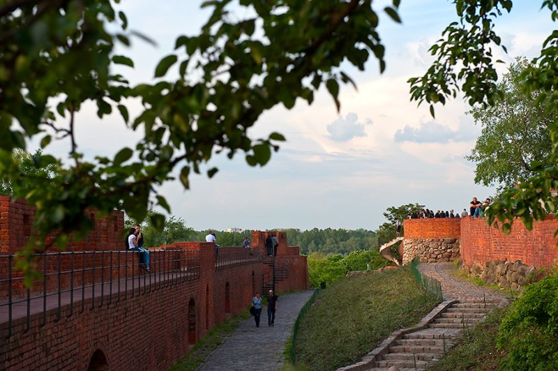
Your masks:
M 13 264 L 8 254 L 27 243 L 33 212 L 23 201 L 0 197 L 0 255 L 6 262 L 2 264 Z M 3 370 L 166 370 L 211 328 L 246 310 L 255 292 L 262 292 L 262 287 L 269 285 L 266 280 L 273 275 L 271 258 L 262 259 L 266 256 L 264 241 L 268 232 L 252 232 L 251 250 L 222 247 L 219 257 L 213 245 L 206 242 L 161 246 L 161 252 L 152 254 L 151 275 L 138 275 L 135 289 L 131 282 L 125 287 L 109 278 L 117 277 L 114 272 L 119 270 L 125 276 L 130 273 L 130 264 L 137 264 L 133 260 L 137 257 L 122 252 L 123 213 L 114 211 L 103 219 L 91 213 L 91 218 L 94 229 L 89 237 L 80 243 L 70 241 L 67 248 L 70 252 L 88 250 L 91 255 L 78 262 L 72 260 L 72 254 L 61 260 L 53 254 L 56 259 L 46 265 L 51 276 L 44 281 L 44 287 L 50 291 L 61 285 L 61 296 L 70 296 L 68 287 L 81 283 L 96 282 L 100 287 L 97 280 L 103 277 L 103 271 L 97 267 L 105 267 L 107 273 L 109 266 L 113 274 L 104 275 L 103 282 L 108 282 L 105 294 L 99 294 L 97 289 L 96 296 L 82 300 L 81 294 L 76 293 L 71 302 L 61 304 L 54 294 L 45 298 L 46 309 L 39 296 L 31 305 L 29 317 L 25 302 L 14 303 L 8 312 L 8 292 L 13 299 L 14 295 L 21 297 L 22 281 L 9 280 L 7 265 L 0 264 L 4 267 L 0 269 Z M 308 289 L 306 257 L 299 255 L 299 248 L 287 246 L 284 232 L 276 234 L 279 245 L 274 264 L 282 273 L 287 272 L 287 277 L 276 283 L 276 292 Z M 105 252 L 95 253 L 100 250 Z M 119 253 L 111 253 L 112 250 Z M 169 250 L 181 250 L 180 258 Z M 121 260 L 115 260 L 115 256 Z M 111 264 L 118 262 L 117 266 L 107 265 L 107 259 L 113 259 Z M 68 274 L 68 266 L 79 269 L 80 274 Z M 137 266 L 134 268 L 138 272 Z M 194 272 L 191 268 L 195 268 Z M 56 271 L 63 271 L 63 277 L 59 278 Z M 13 277 L 20 275 L 15 272 Z M 108 287 L 115 285 L 125 287 L 125 291 L 109 294 Z M 40 289 L 34 288 L 31 294 Z

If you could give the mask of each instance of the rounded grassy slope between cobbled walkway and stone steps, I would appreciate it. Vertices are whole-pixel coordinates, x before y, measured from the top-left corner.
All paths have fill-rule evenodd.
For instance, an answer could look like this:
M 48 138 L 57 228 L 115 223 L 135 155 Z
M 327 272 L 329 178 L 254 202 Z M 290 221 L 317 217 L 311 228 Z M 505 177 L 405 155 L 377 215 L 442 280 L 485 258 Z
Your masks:
M 375 349 L 393 331 L 416 324 L 437 304 L 409 267 L 363 272 L 335 282 L 303 317 L 297 370 L 335 370 Z

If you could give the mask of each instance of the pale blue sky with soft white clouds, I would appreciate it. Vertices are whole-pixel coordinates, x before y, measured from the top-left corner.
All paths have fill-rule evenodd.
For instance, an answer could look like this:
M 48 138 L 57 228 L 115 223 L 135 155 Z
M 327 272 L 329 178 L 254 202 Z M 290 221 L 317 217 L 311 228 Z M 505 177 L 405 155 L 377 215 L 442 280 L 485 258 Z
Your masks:
M 121 52 L 135 61 L 123 70 L 131 82 L 149 82 L 158 61 L 173 52 L 181 34 L 193 35 L 209 17 L 198 0 L 125 0 L 129 27 L 156 41 L 157 46 L 133 39 Z M 374 1 L 386 3 L 386 1 Z M 541 1 L 514 1 L 510 15 L 497 21 L 508 53 L 495 50 L 506 63 L 516 56 L 532 58 L 555 24 Z M 265 167 L 250 167 L 243 153 L 233 160 L 213 156 L 205 169 L 218 167 L 208 179 L 194 174 L 190 190 L 171 182 L 159 189 L 172 208 L 171 214 L 197 230 L 231 227 L 242 229 L 299 228 L 302 230 L 370 229 L 386 222 L 382 213 L 391 206 L 418 203 L 429 209 L 462 211 L 472 197 L 483 199 L 495 188 L 474 183 L 475 164 L 465 160 L 481 134 L 458 98 L 437 105 L 432 119 L 428 105 L 409 101 L 409 77 L 425 73 L 432 56 L 429 47 L 445 27 L 457 20 L 451 1 L 403 0 L 402 24 L 393 22 L 383 6 L 379 33 L 386 46 L 386 71 L 371 58 L 364 72 L 347 66 L 356 82 L 342 86 L 340 112 L 325 91 L 309 106 L 297 100 L 293 109 L 276 106 L 250 128 L 252 137 L 280 132 L 287 142 L 273 153 Z M 137 112 L 138 103 L 130 111 Z M 116 114 L 98 119 L 96 109 L 86 105 L 77 116 L 77 141 L 87 156 L 110 156 L 139 134 L 126 130 Z M 32 146 L 32 145 L 31 145 Z M 47 147 L 47 153 L 66 156 L 68 144 Z

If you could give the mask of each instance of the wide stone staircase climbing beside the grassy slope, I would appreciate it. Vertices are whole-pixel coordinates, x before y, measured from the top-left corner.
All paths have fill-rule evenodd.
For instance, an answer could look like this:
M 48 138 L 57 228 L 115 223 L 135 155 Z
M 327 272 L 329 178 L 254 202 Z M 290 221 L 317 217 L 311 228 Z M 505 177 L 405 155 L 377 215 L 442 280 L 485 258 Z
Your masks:
M 338 370 L 388 370 L 392 366 L 400 371 L 424 370 L 469 328 L 484 321 L 495 306 L 495 301 L 485 298 L 444 301 L 414 328 L 395 331 L 361 362 Z

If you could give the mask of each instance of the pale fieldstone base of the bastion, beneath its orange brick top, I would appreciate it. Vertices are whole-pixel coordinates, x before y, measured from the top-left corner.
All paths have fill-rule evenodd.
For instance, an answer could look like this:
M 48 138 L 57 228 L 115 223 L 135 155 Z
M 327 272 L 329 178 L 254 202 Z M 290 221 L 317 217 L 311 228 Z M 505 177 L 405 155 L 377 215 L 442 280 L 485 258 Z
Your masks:
M 403 240 L 403 264 L 418 257 L 424 263 L 453 262 L 459 258 L 459 239 L 405 239 Z

